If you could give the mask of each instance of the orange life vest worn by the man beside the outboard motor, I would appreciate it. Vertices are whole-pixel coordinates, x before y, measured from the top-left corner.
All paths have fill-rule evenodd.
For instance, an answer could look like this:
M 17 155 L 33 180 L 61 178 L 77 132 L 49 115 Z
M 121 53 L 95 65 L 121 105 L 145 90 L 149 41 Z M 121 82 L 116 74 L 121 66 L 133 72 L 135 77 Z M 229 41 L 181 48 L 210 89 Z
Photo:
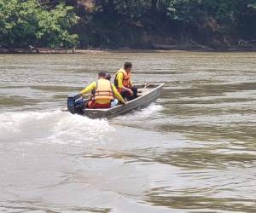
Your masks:
M 91 100 L 113 100 L 113 89 L 110 81 L 99 79 L 96 82 L 96 89 L 91 95 Z

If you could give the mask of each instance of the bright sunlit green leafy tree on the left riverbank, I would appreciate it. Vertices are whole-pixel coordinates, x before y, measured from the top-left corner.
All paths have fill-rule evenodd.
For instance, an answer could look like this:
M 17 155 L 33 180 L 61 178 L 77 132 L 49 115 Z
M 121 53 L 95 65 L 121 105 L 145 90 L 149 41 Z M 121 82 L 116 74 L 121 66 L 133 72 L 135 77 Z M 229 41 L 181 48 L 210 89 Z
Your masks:
M 0 45 L 73 47 L 79 37 L 68 30 L 77 22 L 73 8 L 63 3 L 48 9 L 37 0 L 0 0 Z

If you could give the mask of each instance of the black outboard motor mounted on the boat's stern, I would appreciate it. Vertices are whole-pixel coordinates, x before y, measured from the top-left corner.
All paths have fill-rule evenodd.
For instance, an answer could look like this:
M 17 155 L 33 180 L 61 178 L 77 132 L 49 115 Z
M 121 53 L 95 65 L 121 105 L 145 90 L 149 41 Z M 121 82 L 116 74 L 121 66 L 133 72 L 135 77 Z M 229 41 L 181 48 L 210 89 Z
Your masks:
M 82 95 L 73 93 L 67 97 L 67 110 L 73 114 L 83 114 L 84 98 Z

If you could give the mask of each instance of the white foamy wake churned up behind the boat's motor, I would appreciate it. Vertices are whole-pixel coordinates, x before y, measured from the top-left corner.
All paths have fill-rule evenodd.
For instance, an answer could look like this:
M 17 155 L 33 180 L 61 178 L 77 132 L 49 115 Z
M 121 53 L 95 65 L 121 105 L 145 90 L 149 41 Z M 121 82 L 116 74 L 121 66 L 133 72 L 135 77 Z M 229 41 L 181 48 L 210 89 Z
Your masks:
M 0 114 L 0 141 L 75 143 L 101 141 L 114 128 L 105 119 L 90 119 L 61 110 Z

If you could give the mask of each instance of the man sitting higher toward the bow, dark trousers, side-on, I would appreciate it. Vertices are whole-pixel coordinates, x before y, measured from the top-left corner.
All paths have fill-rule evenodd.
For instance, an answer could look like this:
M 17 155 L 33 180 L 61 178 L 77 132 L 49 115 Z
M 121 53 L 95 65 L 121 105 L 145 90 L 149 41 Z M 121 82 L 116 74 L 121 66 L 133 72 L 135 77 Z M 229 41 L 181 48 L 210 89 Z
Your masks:
M 125 62 L 124 68 L 119 69 L 114 78 L 114 85 L 128 101 L 137 98 L 137 88 L 131 83 L 131 69 L 131 62 Z

